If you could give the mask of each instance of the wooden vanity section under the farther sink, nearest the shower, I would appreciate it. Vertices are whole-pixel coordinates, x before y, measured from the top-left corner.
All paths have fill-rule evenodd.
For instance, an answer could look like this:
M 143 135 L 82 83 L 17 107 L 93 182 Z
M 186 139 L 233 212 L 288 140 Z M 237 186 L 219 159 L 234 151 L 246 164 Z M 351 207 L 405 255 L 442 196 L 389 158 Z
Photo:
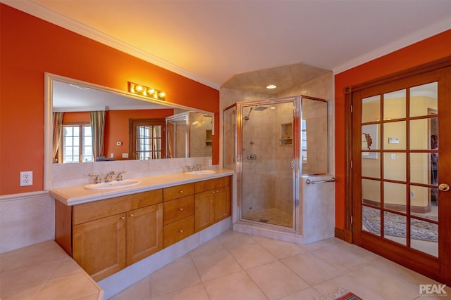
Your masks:
M 194 232 L 230 216 L 230 176 L 194 184 Z

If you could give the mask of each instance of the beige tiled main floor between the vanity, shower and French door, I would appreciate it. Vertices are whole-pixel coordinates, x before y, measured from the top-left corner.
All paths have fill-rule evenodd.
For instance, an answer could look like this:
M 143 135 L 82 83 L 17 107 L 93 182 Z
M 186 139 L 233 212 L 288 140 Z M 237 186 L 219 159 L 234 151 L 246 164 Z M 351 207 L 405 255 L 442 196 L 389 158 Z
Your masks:
M 437 283 L 337 238 L 299 245 L 228 230 L 111 299 L 333 299 L 347 289 L 411 300 L 420 284 Z

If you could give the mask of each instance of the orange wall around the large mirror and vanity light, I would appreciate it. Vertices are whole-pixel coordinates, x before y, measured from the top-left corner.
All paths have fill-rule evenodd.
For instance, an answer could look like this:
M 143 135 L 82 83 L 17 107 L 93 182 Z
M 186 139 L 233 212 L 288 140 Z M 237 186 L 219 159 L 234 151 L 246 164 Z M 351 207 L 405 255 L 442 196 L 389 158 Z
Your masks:
M 0 195 L 43 188 L 44 72 L 127 91 L 128 81 L 166 91 L 166 101 L 215 113 L 219 91 L 0 4 Z M 192 95 L 192 96 L 191 96 Z M 219 159 L 214 136 L 213 162 Z M 19 172 L 33 185 L 19 186 Z

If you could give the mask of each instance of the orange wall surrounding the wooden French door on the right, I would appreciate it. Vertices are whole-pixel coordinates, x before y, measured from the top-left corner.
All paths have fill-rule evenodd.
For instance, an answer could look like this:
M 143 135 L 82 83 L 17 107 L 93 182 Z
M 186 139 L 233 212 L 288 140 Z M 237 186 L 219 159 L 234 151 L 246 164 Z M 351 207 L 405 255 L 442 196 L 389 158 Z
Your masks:
M 451 56 L 451 30 L 335 75 L 335 226 L 345 229 L 346 107 L 345 87 Z

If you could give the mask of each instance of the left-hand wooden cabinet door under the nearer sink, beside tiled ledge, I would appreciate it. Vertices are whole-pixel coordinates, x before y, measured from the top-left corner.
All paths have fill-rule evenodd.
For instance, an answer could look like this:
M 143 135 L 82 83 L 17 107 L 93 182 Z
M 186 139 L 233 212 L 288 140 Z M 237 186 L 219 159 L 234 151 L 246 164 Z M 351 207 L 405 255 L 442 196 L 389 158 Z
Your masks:
M 125 268 L 125 214 L 73 226 L 73 259 L 95 281 Z

